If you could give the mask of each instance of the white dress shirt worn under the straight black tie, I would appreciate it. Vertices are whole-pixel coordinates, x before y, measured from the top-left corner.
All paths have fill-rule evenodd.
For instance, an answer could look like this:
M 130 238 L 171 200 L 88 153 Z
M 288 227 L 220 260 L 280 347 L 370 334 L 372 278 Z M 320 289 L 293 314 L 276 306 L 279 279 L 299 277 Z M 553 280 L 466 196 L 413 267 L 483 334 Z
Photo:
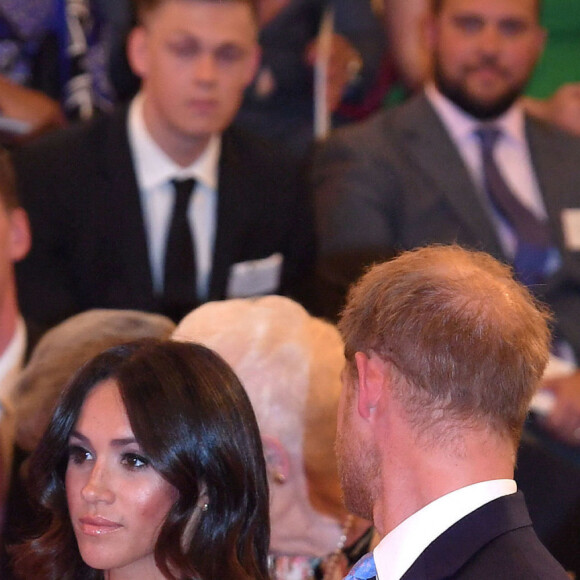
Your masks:
M 195 242 L 197 296 L 208 296 L 217 224 L 217 198 L 221 137 L 214 135 L 203 153 L 188 167 L 175 163 L 157 145 L 145 126 L 143 95 L 129 108 L 128 133 L 137 185 L 141 195 L 147 232 L 153 290 L 163 294 L 163 274 L 167 235 L 175 200 L 173 179 L 196 180 L 189 203 L 188 219 Z

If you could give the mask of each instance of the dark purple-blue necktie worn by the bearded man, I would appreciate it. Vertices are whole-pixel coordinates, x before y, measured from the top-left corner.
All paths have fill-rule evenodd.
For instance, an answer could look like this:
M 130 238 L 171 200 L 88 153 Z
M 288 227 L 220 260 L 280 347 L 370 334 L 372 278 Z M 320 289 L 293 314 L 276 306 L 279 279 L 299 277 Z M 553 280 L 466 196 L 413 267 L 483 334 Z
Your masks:
M 496 127 L 482 127 L 476 134 L 481 141 L 485 191 L 517 238 L 516 274 L 528 286 L 539 284 L 545 278 L 546 262 L 552 249 L 548 222 L 538 219 L 526 208 L 504 181 L 493 157 L 501 131 Z

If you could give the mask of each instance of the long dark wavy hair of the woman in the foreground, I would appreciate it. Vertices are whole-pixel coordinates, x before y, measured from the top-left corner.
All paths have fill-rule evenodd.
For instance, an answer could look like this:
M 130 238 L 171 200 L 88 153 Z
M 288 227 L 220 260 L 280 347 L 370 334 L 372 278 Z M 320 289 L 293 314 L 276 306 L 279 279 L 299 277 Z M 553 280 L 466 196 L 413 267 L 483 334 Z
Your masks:
M 179 492 L 155 546 L 169 579 L 265 580 L 270 539 L 268 484 L 250 401 L 217 354 L 192 343 L 141 340 L 99 354 L 63 393 L 31 457 L 29 482 L 38 529 L 13 548 L 19 577 L 102 579 L 81 559 L 64 477 L 68 439 L 89 391 L 114 379 L 135 438 L 154 469 Z M 196 527 L 199 497 L 209 509 Z

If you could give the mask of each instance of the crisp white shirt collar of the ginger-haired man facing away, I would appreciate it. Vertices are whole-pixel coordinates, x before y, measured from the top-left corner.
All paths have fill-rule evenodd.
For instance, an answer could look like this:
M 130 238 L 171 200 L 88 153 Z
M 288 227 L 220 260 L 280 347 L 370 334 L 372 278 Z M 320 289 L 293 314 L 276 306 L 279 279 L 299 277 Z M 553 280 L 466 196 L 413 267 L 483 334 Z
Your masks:
M 427 504 L 389 532 L 373 550 L 378 580 L 399 580 L 435 539 L 481 506 L 517 491 L 513 479 L 457 489 Z

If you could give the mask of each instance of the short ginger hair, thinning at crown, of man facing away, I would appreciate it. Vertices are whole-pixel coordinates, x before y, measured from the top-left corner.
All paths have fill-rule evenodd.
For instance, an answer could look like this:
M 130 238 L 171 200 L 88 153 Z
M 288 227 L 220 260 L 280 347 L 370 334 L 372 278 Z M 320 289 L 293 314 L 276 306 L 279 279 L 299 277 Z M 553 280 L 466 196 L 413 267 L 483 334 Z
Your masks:
M 517 442 L 548 361 L 549 318 L 491 256 L 432 246 L 371 268 L 339 330 L 351 373 L 357 351 L 390 363 L 418 429 L 471 422 Z

